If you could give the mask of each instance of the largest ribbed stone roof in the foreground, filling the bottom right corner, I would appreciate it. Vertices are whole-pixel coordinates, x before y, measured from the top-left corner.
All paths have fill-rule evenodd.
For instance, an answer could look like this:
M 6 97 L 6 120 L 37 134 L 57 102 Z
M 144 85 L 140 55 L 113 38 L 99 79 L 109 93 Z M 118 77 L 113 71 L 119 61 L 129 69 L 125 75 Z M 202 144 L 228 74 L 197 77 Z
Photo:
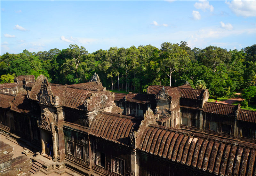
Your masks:
M 252 175 L 256 151 L 148 126 L 138 149 L 216 175 Z

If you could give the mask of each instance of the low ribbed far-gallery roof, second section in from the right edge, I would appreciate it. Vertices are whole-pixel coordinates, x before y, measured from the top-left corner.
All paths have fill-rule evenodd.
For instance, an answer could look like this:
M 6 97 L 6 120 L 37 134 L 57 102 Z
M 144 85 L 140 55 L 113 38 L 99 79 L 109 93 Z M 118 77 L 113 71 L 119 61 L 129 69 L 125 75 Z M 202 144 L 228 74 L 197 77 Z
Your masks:
M 238 110 L 238 105 L 205 102 L 203 110 L 204 112 L 209 112 L 213 114 L 236 116 L 236 110 Z

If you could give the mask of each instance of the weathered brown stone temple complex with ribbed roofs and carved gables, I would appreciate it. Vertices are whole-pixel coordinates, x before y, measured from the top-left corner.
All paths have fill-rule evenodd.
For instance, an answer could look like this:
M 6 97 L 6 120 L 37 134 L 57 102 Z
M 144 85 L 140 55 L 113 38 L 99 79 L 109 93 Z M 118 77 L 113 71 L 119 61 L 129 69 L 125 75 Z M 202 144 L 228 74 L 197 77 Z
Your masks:
M 48 158 L 52 144 L 54 164 L 44 173 L 256 176 L 256 111 L 208 102 L 207 89 L 111 93 L 95 73 L 73 85 L 18 76 L 0 90 L 1 131 Z

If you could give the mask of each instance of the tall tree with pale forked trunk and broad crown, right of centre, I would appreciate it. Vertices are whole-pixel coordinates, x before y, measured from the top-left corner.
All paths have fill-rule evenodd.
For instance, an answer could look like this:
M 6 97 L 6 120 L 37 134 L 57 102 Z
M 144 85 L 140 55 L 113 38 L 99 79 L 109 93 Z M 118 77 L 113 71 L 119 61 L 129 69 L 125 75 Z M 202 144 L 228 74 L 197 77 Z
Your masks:
M 172 73 L 179 72 L 188 62 L 188 53 L 182 49 L 179 44 L 165 42 L 161 44 L 161 68 L 164 73 L 170 77 L 170 86 L 172 85 Z

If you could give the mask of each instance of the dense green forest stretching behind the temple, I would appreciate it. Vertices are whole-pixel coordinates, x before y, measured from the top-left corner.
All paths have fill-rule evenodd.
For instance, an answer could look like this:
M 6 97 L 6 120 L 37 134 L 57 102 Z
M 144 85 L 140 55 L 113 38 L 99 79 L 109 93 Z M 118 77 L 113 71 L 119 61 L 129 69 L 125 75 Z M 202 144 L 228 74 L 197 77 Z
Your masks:
M 83 46 L 1 56 L 1 83 L 16 76 L 43 74 L 51 83 L 88 82 L 96 72 L 104 87 L 121 92 L 146 93 L 151 84 L 207 88 L 214 98 L 242 92 L 244 104 L 256 104 L 256 44 L 240 51 L 217 46 L 204 49 L 165 42 L 130 48 L 110 47 L 88 53 Z M 246 106 L 246 105 L 244 105 Z

